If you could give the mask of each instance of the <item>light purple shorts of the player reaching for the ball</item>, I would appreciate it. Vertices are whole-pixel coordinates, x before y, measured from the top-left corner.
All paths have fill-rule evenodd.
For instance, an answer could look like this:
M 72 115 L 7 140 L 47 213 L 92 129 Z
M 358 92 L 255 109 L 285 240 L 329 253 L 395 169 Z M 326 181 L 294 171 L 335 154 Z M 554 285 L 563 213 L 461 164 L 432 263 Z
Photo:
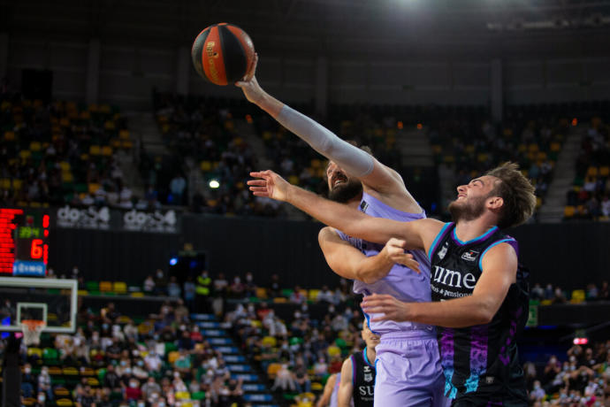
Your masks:
M 383 334 L 375 348 L 375 405 L 446 407 L 445 375 L 435 335 L 423 331 Z

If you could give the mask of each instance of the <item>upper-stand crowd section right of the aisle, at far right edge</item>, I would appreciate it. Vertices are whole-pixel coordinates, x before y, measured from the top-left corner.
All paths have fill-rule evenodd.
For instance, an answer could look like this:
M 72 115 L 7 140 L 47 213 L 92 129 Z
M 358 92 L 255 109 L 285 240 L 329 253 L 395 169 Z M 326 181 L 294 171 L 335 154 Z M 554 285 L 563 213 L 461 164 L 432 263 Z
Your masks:
M 566 204 L 566 219 L 610 220 L 610 125 L 599 117 L 583 134 Z

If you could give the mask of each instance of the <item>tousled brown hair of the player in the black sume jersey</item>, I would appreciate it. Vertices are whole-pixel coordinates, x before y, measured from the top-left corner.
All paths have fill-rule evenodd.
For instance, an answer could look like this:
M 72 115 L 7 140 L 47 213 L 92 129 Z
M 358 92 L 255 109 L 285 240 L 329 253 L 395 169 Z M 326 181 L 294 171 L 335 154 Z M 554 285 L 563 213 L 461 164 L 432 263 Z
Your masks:
M 516 227 L 530 219 L 536 210 L 536 188 L 519 170 L 519 165 L 504 163 L 485 175 L 496 177 L 496 183 L 489 196 L 499 196 L 504 201 L 499 213 L 498 227 Z

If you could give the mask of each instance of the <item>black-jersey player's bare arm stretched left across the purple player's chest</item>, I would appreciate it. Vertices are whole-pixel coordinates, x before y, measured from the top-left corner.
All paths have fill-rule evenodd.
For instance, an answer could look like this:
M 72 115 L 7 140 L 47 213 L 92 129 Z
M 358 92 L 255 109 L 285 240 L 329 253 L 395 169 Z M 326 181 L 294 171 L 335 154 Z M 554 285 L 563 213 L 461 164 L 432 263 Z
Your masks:
M 305 189 L 290 185 L 270 170 L 250 173 L 250 175 L 260 178 L 260 180 L 248 180 L 248 186 L 255 196 L 267 196 L 293 204 L 322 223 L 369 242 L 385 244 L 396 237 L 405 241 L 404 249 L 428 250 L 444 225 L 435 219 L 400 222 L 373 218 L 345 204 L 329 201 Z

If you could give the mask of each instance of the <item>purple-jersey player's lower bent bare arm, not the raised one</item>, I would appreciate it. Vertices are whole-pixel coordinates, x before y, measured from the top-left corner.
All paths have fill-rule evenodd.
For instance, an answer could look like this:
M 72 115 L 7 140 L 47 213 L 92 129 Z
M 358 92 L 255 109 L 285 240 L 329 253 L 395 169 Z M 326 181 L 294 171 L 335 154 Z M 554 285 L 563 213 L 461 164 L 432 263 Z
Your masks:
M 339 237 L 332 227 L 324 227 L 317 235 L 326 263 L 332 271 L 350 280 L 360 280 L 368 284 L 383 279 L 396 263 L 406 265 L 419 272 L 419 263 L 402 247 L 394 244 L 395 239 L 386 243 L 384 250 L 376 256 L 367 257 L 349 242 Z

